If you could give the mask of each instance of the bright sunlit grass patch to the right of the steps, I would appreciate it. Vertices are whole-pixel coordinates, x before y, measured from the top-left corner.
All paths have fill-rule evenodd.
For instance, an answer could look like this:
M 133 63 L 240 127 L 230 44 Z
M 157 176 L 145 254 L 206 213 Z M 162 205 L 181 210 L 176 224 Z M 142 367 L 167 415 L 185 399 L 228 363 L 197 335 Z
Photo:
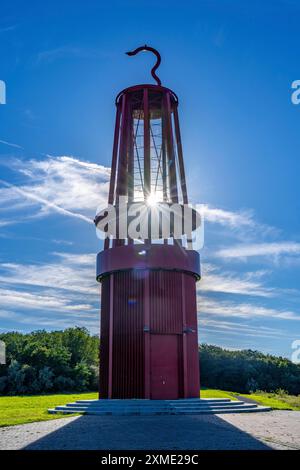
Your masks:
M 286 395 L 277 393 L 256 392 L 242 397 L 251 398 L 260 405 L 270 406 L 274 410 L 300 411 L 300 395 Z

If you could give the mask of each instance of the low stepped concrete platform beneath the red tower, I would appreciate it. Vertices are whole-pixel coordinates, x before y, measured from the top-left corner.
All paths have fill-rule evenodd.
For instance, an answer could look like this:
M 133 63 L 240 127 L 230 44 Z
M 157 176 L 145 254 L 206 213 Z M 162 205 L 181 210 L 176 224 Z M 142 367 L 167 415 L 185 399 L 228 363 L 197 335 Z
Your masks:
M 198 415 L 224 413 L 254 413 L 271 408 L 229 398 L 187 398 L 181 400 L 78 400 L 57 406 L 48 412 L 87 415 Z

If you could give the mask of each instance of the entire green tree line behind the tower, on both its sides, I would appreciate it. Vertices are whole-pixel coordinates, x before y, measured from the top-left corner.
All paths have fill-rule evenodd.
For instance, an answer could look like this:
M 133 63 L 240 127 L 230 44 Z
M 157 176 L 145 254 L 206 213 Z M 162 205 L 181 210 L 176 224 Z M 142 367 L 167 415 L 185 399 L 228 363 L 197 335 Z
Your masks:
M 0 394 L 96 391 L 99 338 L 85 328 L 0 334 L 6 364 L 0 365 Z M 300 365 L 252 350 L 199 346 L 201 385 L 239 393 L 279 389 L 300 394 Z

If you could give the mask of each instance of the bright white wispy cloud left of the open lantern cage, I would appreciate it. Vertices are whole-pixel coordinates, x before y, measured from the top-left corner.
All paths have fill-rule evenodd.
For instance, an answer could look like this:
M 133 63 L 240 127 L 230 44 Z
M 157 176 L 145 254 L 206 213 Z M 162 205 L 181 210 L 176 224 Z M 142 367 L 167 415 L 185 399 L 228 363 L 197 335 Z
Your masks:
M 12 159 L 10 167 L 24 182 L 13 185 L 0 181 L 2 211 L 26 209 L 26 218 L 58 213 L 92 223 L 97 206 L 104 205 L 107 199 L 110 169 L 102 165 L 73 157 L 48 156 L 26 162 Z M 15 214 L 12 220 L 16 220 Z

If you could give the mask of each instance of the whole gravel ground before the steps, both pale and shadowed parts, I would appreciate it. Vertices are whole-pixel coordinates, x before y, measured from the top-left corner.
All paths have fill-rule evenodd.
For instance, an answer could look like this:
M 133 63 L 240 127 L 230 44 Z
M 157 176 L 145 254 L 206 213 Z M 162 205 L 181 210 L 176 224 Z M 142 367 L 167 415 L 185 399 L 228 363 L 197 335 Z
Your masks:
M 300 449 L 300 413 L 79 416 L 0 428 L 0 449 Z

